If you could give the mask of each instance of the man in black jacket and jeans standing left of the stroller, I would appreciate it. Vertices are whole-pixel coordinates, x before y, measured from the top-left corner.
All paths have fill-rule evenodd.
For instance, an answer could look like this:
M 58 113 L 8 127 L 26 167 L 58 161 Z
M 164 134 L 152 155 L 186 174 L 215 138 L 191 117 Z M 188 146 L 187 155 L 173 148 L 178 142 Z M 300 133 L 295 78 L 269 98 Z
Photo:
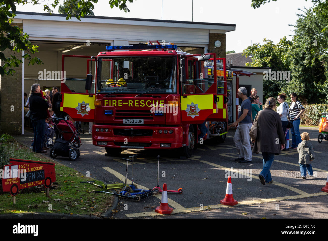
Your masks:
M 47 118 L 47 109 L 49 108 L 49 105 L 47 103 L 47 100 L 43 99 L 40 96 L 39 84 L 33 84 L 31 86 L 31 91 L 32 94 L 29 98 L 29 102 L 31 110 L 30 118 L 33 124 L 34 131 L 33 151 L 45 153 L 47 151 L 44 151 L 42 149 L 42 142 L 45 130 L 45 120 Z

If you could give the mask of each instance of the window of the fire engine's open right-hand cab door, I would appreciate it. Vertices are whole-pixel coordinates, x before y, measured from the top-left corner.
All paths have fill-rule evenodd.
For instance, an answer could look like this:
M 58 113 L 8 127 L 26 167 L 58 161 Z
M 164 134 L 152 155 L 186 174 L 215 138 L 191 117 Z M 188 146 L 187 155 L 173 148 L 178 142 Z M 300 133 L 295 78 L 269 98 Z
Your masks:
M 188 59 L 188 76 L 183 84 L 184 94 L 206 93 L 214 84 L 214 75 L 209 74 L 207 62 Z

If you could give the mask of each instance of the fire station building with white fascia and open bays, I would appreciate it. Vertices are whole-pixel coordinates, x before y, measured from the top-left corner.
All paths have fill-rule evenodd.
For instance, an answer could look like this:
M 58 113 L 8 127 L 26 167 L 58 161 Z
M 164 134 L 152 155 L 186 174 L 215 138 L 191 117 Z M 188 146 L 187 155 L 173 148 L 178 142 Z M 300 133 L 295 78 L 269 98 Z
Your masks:
M 16 12 L 16 14 L 14 23 L 23 28 L 32 44 L 39 46 L 39 52 L 35 56 L 40 58 L 43 64 L 28 65 L 29 61 L 26 59 L 23 60 L 23 65 L 15 69 L 16 72 L 12 76 L 0 76 L 0 128 L 9 134 L 24 134 L 24 92 L 29 95 L 32 84 L 39 83 L 42 90 L 51 90 L 53 86 L 57 86 L 60 91 L 60 77 L 45 78 L 45 73 L 62 70 L 63 54 L 92 56 L 104 51 L 108 45 L 145 44 L 149 40 L 158 40 L 161 44 L 173 42 L 181 50 L 191 54 L 212 51 L 216 52 L 217 57 L 226 57 L 226 33 L 236 30 L 235 24 L 223 23 L 101 16 L 86 16 L 78 21 L 73 17 L 72 20 L 66 20 L 64 14 L 49 15 L 35 12 Z M 221 45 L 214 48 L 217 40 Z M 4 54 L 10 56 L 12 52 L 5 50 Z M 86 67 L 79 62 L 69 62 L 65 66 L 66 77 L 75 76 L 85 79 Z M 85 85 L 84 82 L 80 82 L 76 85 Z M 257 94 L 262 96 L 262 74 L 253 71 L 242 81 L 239 79 L 239 82 L 256 88 Z M 236 118 L 235 85 L 236 76 L 230 90 L 233 93 L 230 95 L 229 112 L 232 114 L 230 121 Z

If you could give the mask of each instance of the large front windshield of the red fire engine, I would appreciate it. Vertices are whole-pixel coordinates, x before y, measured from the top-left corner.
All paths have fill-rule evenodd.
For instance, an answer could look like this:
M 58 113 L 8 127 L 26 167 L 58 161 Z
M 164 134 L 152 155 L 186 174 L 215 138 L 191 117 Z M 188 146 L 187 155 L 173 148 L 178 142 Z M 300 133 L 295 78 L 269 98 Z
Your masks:
M 98 58 L 98 93 L 176 93 L 176 56 Z

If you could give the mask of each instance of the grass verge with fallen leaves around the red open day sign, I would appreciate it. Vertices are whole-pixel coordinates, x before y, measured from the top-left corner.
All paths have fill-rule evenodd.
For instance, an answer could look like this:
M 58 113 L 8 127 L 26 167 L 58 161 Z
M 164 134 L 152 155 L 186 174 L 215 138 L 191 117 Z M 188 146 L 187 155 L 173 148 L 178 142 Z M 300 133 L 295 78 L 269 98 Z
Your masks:
M 8 153 L 1 158 L 17 158 L 43 162 L 54 162 L 50 158 L 40 153 L 34 153 L 25 146 L 12 139 L 0 143 L 3 153 Z M 4 162 L 5 160 L 1 160 Z M 9 192 L 2 191 L 2 181 L 0 184 L 0 214 L 17 212 L 50 212 L 66 214 L 88 214 L 99 216 L 108 210 L 113 203 L 113 196 L 105 193 L 93 193 L 94 190 L 101 190 L 91 184 L 80 183 L 80 181 L 95 181 L 90 177 L 83 176 L 58 162 L 55 163 L 56 181 L 50 187 L 50 197 L 46 196 L 44 186 L 36 186 L 22 189 L 16 195 L 16 204 L 12 202 Z M 0 179 L 1 180 L 1 179 Z

